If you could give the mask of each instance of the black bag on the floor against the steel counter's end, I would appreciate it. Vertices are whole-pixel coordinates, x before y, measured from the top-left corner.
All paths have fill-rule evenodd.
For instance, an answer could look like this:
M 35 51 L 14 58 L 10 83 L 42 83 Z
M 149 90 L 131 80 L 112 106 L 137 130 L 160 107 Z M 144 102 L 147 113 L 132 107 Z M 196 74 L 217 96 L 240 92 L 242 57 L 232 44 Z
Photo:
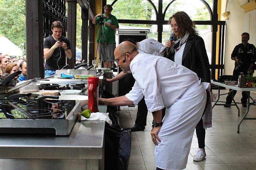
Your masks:
M 105 170 L 127 170 L 131 156 L 131 131 L 118 131 L 105 126 Z

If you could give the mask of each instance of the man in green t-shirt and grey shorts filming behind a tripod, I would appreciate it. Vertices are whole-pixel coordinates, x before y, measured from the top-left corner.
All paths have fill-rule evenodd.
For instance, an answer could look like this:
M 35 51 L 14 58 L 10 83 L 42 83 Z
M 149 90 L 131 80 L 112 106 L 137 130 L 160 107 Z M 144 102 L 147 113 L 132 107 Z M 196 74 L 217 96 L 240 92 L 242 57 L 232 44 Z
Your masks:
M 119 28 L 117 19 L 114 15 L 111 15 L 113 8 L 111 5 L 104 6 L 104 17 L 100 17 L 101 13 L 96 15 L 92 19 L 93 24 L 99 24 L 98 34 L 97 34 L 97 42 L 98 42 L 98 53 L 100 56 L 100 61 L 103 61 L 105 68 L 111 68 L 112 63 L 114 60 L 114 51 L 116 48 L 116 37 L 115 37 L 115 29 Z M 102 21 L 102 36 L 100 34 L 100 20 Z M 104 24 L 104 25 L 103 25 Z M 100 35 L 99 35 L 100 34 Z M 104 44 L 104 34 L 105 34 L 105 41 L 106 47 L 103 46 Z M 107 49 L 107 50 L 106 50 Z M 107 55 L 108 53 L 108 55 Z M 107 59 L 108 57 L 108 59 Z

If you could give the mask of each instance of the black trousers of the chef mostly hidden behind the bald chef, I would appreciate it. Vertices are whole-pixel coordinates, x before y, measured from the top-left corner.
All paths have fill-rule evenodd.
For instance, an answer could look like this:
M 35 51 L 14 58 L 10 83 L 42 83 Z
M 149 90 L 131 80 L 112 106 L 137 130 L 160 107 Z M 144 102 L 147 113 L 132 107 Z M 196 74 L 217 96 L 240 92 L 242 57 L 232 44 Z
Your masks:
M 147 125 L 148 108 L 143 97 L 138 103 L 137 117 L 135 120 L 135 126 L 145 128 Z

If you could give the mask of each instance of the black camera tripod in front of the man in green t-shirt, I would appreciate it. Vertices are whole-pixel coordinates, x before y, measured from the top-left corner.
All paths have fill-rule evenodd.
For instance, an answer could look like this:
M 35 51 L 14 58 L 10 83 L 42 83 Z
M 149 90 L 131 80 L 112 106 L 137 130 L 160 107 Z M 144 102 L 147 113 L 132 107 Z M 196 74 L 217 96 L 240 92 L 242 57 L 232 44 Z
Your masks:
M 105 49 L 106 56 L 107 56 L 107 62 L 108 62 L 108 68 L 109 68 L 108 50 L 107 50 L 106 35 L 105 35 L 105 26 L 104 26 L 104 23 L 103 23 L 104 18 L 105 17 L 103 17 L 102 15 L 100 16 L 100 23 L 99 23 L 99 28 L 98 28 L 98 29 L 100 29 L 100 31 L 99 31 L 98 39 L 97 39 L 97 52 L 96 52 L 96 55 L 95 55 L 95 60 L 96 60 L 96 56 L 97 56 L 97 53 L 98 53 L 98 47 L 99 47 L 99 44 L 100 44 L 99 60 L 98 60 L 97 64 L 101 64 L 100 59 L 101 59 L 102 50 Z M 112 67 L 113 67 L 113 64 L 114 64 L 114 61 L 112 63 Z

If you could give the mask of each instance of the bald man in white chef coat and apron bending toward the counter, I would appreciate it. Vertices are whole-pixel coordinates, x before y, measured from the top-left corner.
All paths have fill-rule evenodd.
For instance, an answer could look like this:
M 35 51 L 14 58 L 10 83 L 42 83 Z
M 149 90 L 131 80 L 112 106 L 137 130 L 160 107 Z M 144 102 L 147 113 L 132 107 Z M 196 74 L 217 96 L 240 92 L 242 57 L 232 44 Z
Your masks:
M 185 169 L 196 124 L 203 115 L 209 83 L 201 83 L 196 73 L 182 65 L 155 55 L 139 53 L 124 41 L 116 47 L 117 66 L 131 70 L 135 83 L 125 96 L 103 99 L 103 105 L 126 106 L 145 96 L 153 114 L 152 141 L 156 145 L 156 169 Z M 161 122 L 162 109 L 166 107 Z

